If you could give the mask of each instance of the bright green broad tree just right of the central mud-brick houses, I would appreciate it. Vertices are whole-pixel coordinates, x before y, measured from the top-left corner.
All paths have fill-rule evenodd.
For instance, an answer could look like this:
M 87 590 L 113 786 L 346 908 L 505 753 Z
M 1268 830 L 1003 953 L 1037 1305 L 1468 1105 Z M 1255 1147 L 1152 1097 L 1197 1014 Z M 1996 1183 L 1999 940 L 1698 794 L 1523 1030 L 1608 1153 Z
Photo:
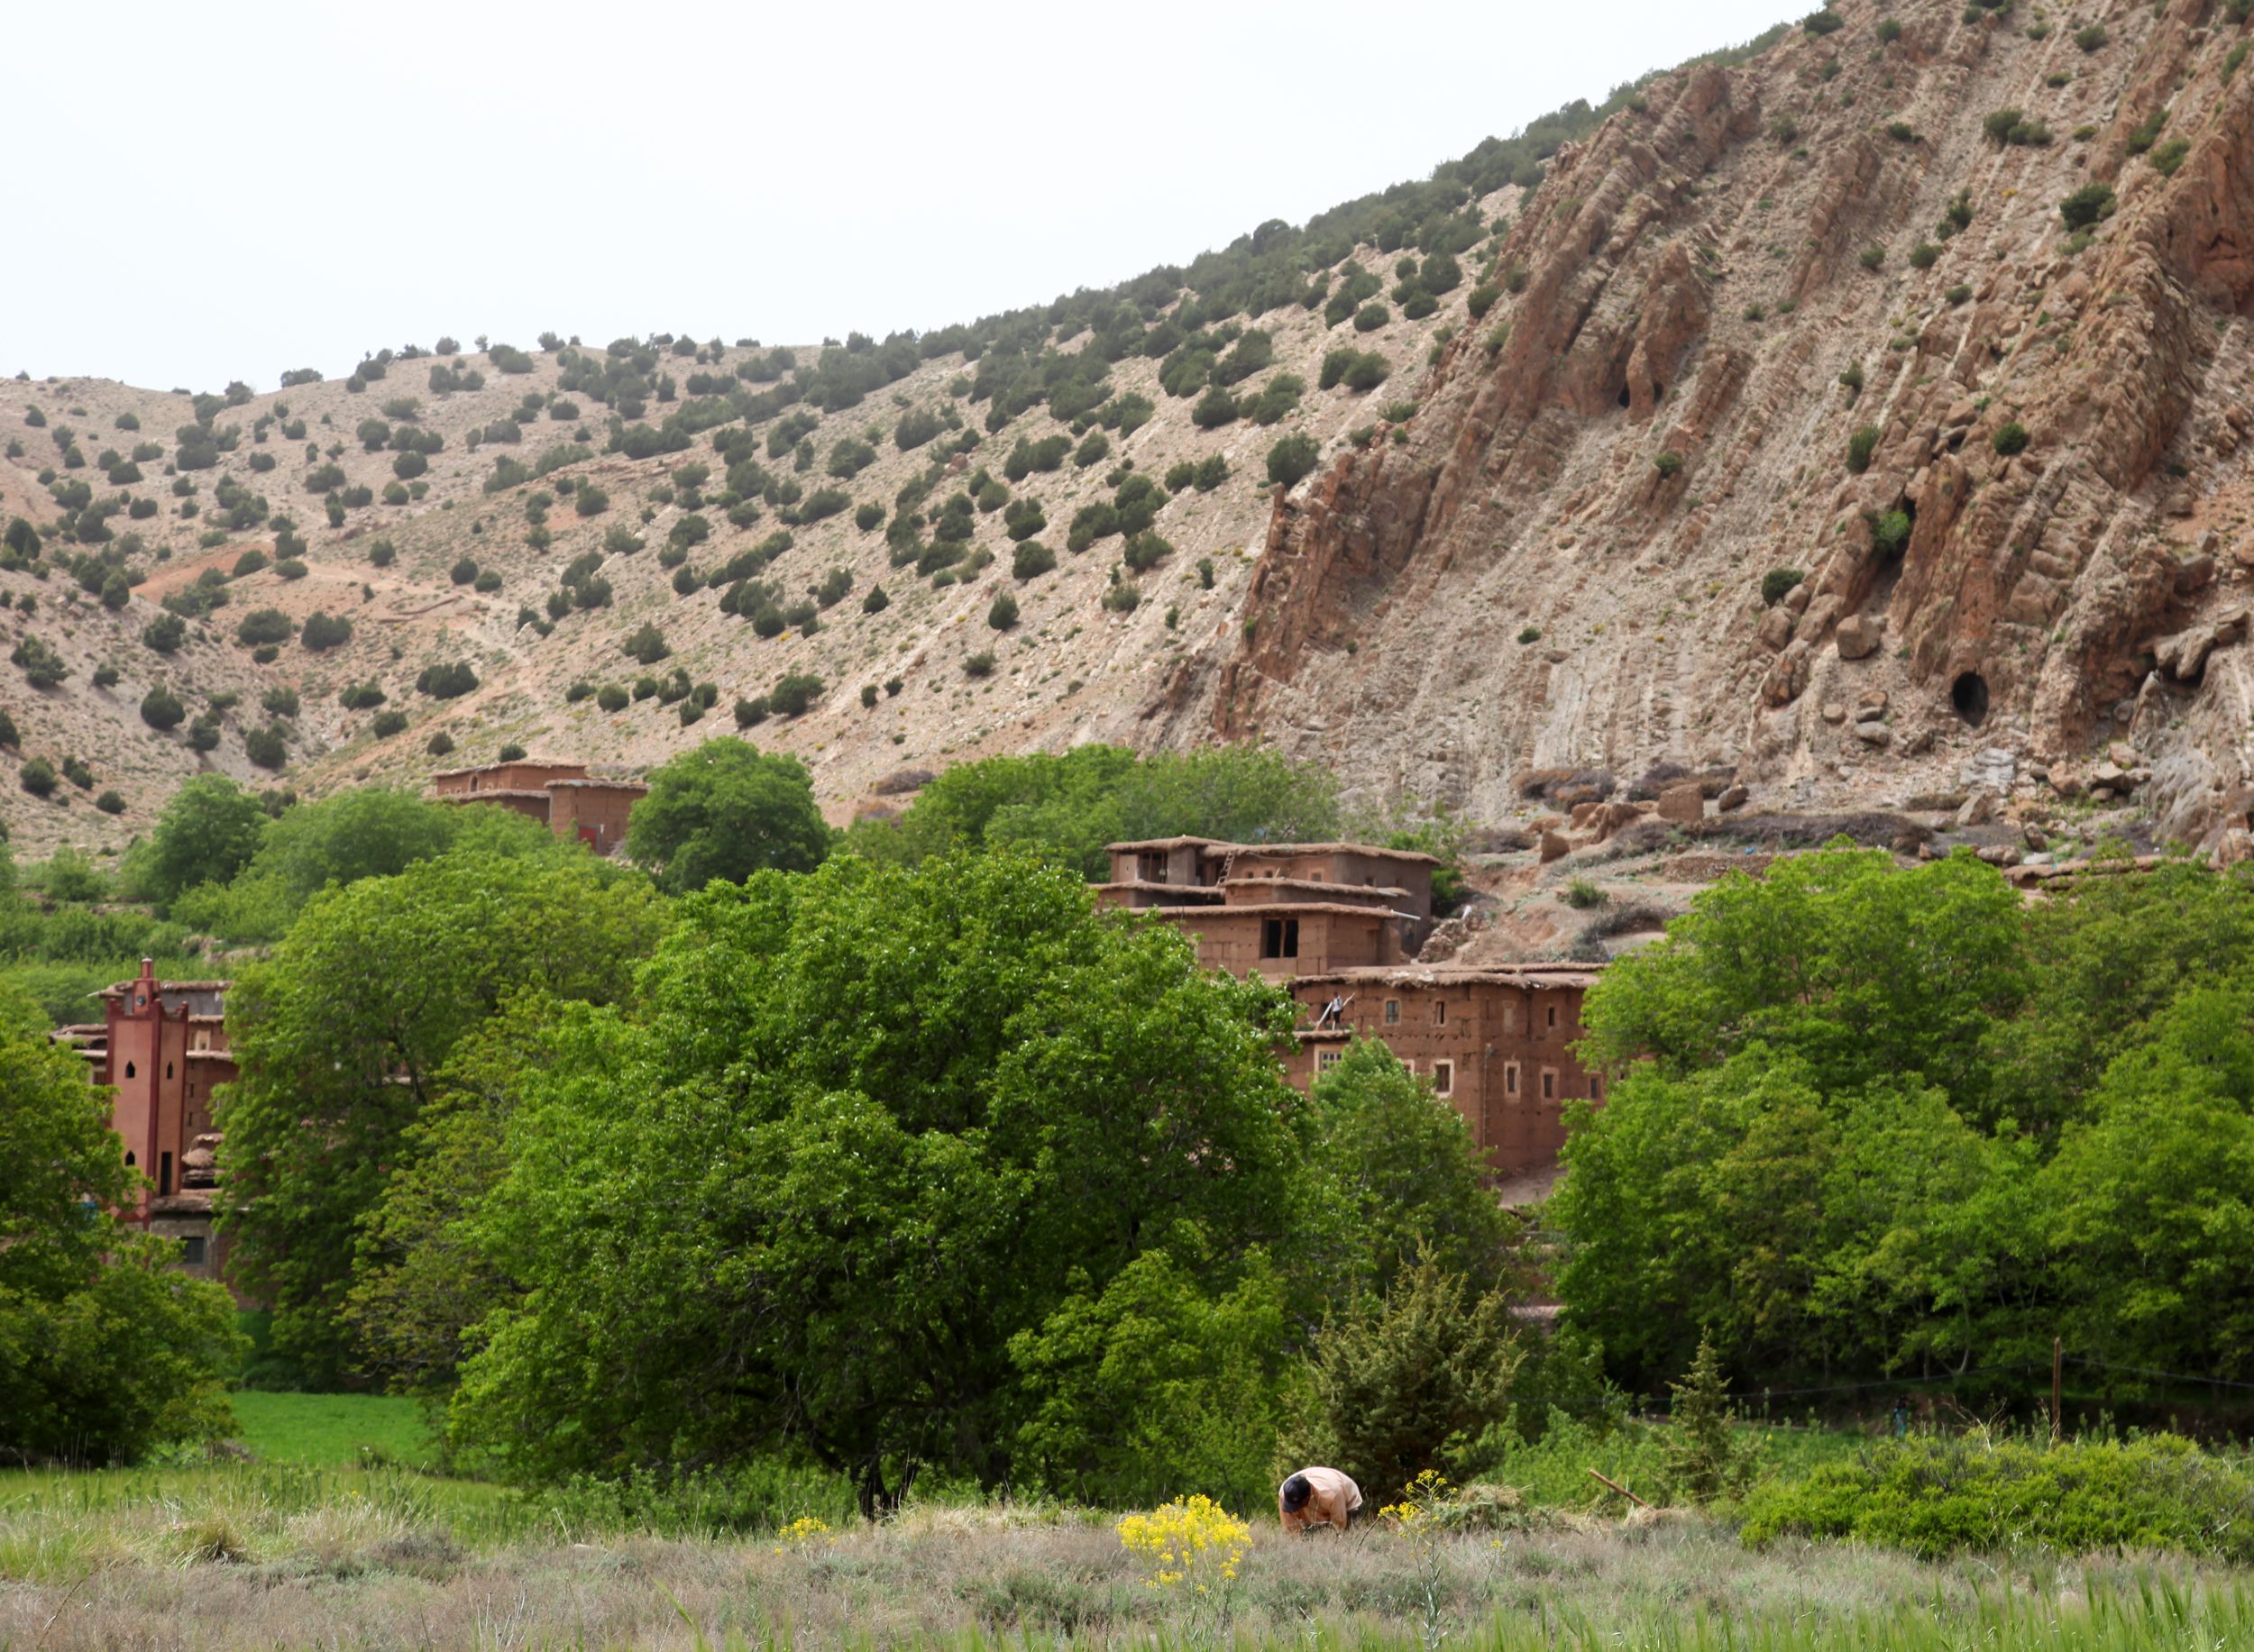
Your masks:
M 1630 1382 L 1700 1327 L 1749 1370 L 2031 1352 L 2040 1149 L 1997 1057 L 2026 1003 L 2020 902 L 1970 856 L 1706 890 L 1585 1007 L 1618 1082 L 1571 1116 L 1551 1206 L 1571 1323 Z

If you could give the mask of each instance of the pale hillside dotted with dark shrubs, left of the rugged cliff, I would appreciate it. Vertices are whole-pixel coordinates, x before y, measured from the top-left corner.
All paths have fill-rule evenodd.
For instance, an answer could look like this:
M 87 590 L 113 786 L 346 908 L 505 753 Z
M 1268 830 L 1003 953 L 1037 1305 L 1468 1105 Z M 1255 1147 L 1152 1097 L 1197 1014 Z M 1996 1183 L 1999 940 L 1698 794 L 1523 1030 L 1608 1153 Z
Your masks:
M 1506 185 L 1456 216 L 1476 221 L 1488 241 L 1485 225 L 1508 221 L 1517 194 Z M 960 347 L 920 356 L 913 340 L 902 376 L 877 374 L 881 388 L 838 410 L 807 399 L 769 410 L 766 401 L 793 376 L 811 383 L 825 356 L 872 361 L 890 340 L 778 352 L 660 336 L 609 349 L 419 352 L 383 361 L 383 376 L 365 383 L 239 390 L 237 406 L 216 410 L 207 401 L 203 430 L 228 442 L 232 428 L 234 437 L 203 469 L 178 464 L 180 437 L 198 430 L 187 394 L 5 381 L 0 518 L 20 516 L 47 541 L 36 559 L 0 557 L 0 597 L 32 604 L 0 611 L 0 656 L 32 638 L 70 676 L 38 690 L 23 672 L 0 674 L 0 710 L 20 730 L 18 748 L 0 748 L 0 820 L 18 852 L 52 843 L 104 850 L 144 829 L 198 769 L 300 791 L 417 787 L 507 744 L 642 769 L 733 730 L 737 701 L 766 699 L 793 674 L 818 678 L 811 705 L 766 717 L 753 737 L 807 760 L 836 818 L 868 807 L 870 789 L 895 771 L 1082 739 L 1145 739 L 1143 708 L 1174 660 L 1210 656 L 1235 638 L 1269 521 L 1269 451 L 1301 435 L 1312 442 L 1303 464 L 1312 464 L 1346 448 L 1350 433 L 1370 439 L 1388 408 L 1413 406 L 1436 345 L 1467 322 L 1474 277 L 1458 275 L 1431 295 L 1431 313 L 1418 320 L 1400 300 L 1388 302 L 1402 257 L 1361 246 L 1312 288 L 1337 295 L 1361 273 L 1366 302 L 1377 304 L 1368 327 L 1330 325 L 1303 302 L 1208 327 L 1215 367 L 1192 361 L 1174 372 L 1181 394 L 1161 383 L 1181 354 L 1174 334 L 1195 331 L 1161 331 L 1181 313 L 1174 293 L 1163 295 L 1163 313 L 1145 304 L 1154 322 L 1147 340 L 1145 318 L 1134 313 L 1134 349 L 1109 363 L 1086 327 L 1057 325 L 1044 358 L 1073 363 L 1091 352 L 1093 367 L 1068 385 L 1086 410 L 1059 417 L 1066 397 L 1057 394 L 994 430 L 996 397 L 980 392 L 983 363 Z M 1413 250 L 1406 257 L 1420 264 Z M 1368 370 L 1359 379 L 1375 383 L 1325 385 L 1323 358 L 1337 349 L 1382 363 L 1382 376 Z M 602 367 L 631 372 L 636 354 L 654 397 L 631 421 L 615 419 L 631 401 L 604 408 L 570 388 Z M 1215 390 L 1215 374 L 1240 372 Z M 762 417 L 665 435 L 683 410 L 728 410 L 696 394 L 708 381 Z M 1201 424 L 1210 394 L 1233 397 L 1244 415 L 1213 424 L 1208 406 Z M 624 428 L 629 444 L 658 435 L 672 451 L 613 451 L 613 428 Z M 730 453 L 755 467 L 755 476 L 735 476 L 744 489 L 730 485 L 730 453 L 715 439 L 742 442 Z M 104 455 L 131 462 L 140 444 L 151 453 L 135 467 L 140 480 L 110 485 Z M 403 444 L 435 451 L 408 455 Z M 1021 458 L 1046 469 L 1012 462 L 1021 446 L 1035 448 Z M 77 469 L 61 469 L 65 451 L 81 458 Z M 509 480 L 516 471 L 500 464 L 525 467 L 525 480 Z M 144 518 L 119 509 L 95 530 L 106 539 L 81 543 L 65 509 L 81 478 L 97 500 L 140 498 L 142 509 L 158 509 Z M 194 494 L 178 498 L 183 487 Z M 397 505 L 385 503 L 385 487 L 399 489 Z M 908 505 L 904 487 L 917 496 Z M 223 521 L 214 527 L 223 489 L 261 500 L 264 518 L 237 532 L 221 532 Z M 809 521 L 823 489 L 832 489 L 823 509 L 834 514 Z M 1122 498 L 1134 509 L 1136 491 L 1145 494 L 1143 530 L 1156 539 L 1129 550 L 1129 536 L 1113 530 L 1077 543 L 1082 512 Z M 942 543 L 958 494 L 962 536 Z M 600 509 L 582 514 L 595 500 Z M 1039 527 L 1028 525 L 1028 500 L 1039 505 Z M 194 516 L 183 516 L 183 505 L 194 505 Z M 881 521 L 863 527 L 868 512 Z M 915 532 L 893 530 L 904 512 L 915 512 Z M 277 532 L 277 523 L 286 527 Z M 1021 545 L 1035 554 L 1021 557 Z M 1041 568 L 1041 548 L 1053 568 Z M 246 552 L 266 566 L 237 575 Z M 135 579 L 128 599 L 124 588 L 115 593 L 124 599 L 115 611 L 68 570 L 97 554 Z M 575 568 L 591 557 L 600 568 Z M 1152 561 L 1129 568 L 1136 559 Z M 577 593 L 595 581 L 600 602 L 579 606 Z M 744 581 L 751 595 L 739 593 Z M 88 584 L 99 586 L 101 570 Z M 142 642 L 167 602 L 194 609 L 196 593 L 214 586 L 225 606 L 192 618 L 178 651 Z M 1014 618 L 994 613 L 1005 593 Z M 755 602 L 773 618 L 760 620 Z M 237 636 L 243 618 L 261 611 L 279 611 L 295 629 L 268 645 L 266 663 Z M 316 613 L 349 620 L 349 640 L 307 647 L 302 627 Z M 624 651 L 645 624 L 665 647 L 647 663 Z M 117 681 L 97 687 L 104 665 Z M 455 665 L 469 667 L 476 687 L 449 699 L 417 690 L 433 667 Z M 642 678 L 656 692 L 633 696 Z M 189 721 L 162 732 L 144 723 L 142 699 L 158 685 L 178 694 Z M 345 690 L 365 685 L 383 701 L 340 703 Z M 687 721 L 683 705 L 696 705 L 703 685 L 712 705 Z M 275 690 L 298 694 L 293 717 L 261 710 Z M 602 690 L 629 699 L 618 705 L 618 692 Z M 221 737 L 198 753 L 189 732 L 212 696 L 225 708 L 214 719 Z M 406 726 L 383 732 L 388 714 L 406 714 Z M 246 737 L 266 728 L 286 739 L 279 771 L 246 750 Z M 90 789 L 61 784 L 38 800 L 14 784 L 25 762 L 65 755 L 90 762 Z M 106 789 L 126 805 L 117 818 L 86 807 Z

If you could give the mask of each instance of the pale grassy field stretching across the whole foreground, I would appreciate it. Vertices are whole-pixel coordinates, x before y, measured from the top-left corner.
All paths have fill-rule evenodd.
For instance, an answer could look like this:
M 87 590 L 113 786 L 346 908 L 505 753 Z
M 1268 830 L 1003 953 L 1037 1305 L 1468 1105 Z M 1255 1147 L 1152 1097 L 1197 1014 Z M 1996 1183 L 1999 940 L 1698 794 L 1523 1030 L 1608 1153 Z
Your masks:
M 1154 1584 L 1116 1515 L 969 1494 L 861 1526 L 778 1474 L 769 1530 L 412 1467 L 412 1404 L 239 1395 L 257 1460 L 0 1474 L 0 1652 L 18 1647 L 1497 1647 L 2112 1652 L 2254 1647 L 2254 1578 L 2182 1557 L 2015 1551 L 1927 1564 L 1828 1544 L 1747 1551 L 1720 1519 L 1618 1517 L 1582 1440 L 1519 1467 L 1492 1530 L 1246 1524 L 1233 1580 Z M 1808 1463 L 1860 1436 L 1772 1436 Z M 374 1447 L 374 1454 L 365 1451 Z M 1648 1438 L 1598 1460 L 1630 1483 Z M 820 1528 L 780 1530 L 793 1517 Z

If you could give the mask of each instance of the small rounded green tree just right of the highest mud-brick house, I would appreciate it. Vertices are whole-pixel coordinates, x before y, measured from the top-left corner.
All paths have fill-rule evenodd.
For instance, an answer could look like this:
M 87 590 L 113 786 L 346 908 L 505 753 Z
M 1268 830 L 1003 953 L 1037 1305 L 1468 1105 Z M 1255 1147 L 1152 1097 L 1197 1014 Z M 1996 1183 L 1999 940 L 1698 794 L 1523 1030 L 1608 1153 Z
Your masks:
M 627 827 L 627 852 L 676 895 L 766 868 L 811 872 L 829 841 L 807 766 L 735 737 L 651 771 Z

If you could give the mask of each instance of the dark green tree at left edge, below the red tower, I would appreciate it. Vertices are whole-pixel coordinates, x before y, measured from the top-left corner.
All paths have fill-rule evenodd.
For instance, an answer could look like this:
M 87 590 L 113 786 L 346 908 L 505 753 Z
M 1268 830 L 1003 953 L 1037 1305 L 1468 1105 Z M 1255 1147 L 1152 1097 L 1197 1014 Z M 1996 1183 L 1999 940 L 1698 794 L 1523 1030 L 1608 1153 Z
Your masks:
M 104 1465 L 219 1438 L 234 1305 L 110 1215 L 140 1176 L 108 1091 L 45 1021 L 0 989 L 0 1456 Z

